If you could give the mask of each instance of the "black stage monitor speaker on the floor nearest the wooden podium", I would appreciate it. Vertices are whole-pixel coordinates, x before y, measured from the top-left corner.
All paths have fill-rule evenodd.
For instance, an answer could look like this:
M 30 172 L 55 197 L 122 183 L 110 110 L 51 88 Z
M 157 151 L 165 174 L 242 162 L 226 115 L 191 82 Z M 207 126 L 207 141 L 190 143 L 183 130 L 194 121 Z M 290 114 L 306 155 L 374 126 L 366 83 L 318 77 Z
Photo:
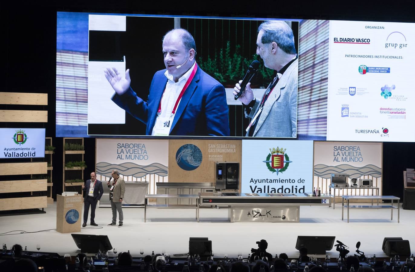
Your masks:
M 98 253 L 112 250 L 110 239 L 106 235 L 71 234 L 82 253 Z

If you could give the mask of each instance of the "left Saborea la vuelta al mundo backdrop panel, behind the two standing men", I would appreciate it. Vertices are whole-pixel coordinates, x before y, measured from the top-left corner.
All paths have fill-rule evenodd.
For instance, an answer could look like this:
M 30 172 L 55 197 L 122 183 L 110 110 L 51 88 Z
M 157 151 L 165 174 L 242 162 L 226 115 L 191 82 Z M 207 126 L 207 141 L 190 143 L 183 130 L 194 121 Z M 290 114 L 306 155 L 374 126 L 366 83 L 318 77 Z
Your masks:
M 96 173 L 106 182 L 118 170 L 125 182 L 149 182 L 155 194 L 156 182 L 168 182 L 168 140 L 97 139 Z

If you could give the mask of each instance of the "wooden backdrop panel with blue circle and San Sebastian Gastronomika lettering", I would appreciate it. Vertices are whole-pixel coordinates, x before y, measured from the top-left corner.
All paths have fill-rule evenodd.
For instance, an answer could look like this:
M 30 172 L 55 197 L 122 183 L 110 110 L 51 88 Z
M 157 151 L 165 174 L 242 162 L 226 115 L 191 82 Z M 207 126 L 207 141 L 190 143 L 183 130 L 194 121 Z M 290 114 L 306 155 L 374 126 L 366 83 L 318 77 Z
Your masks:
M 215 183 L 215 162 L 236 162 L 241 165 L 241 158 L 240 140 L 169 140 L 168 180 Z

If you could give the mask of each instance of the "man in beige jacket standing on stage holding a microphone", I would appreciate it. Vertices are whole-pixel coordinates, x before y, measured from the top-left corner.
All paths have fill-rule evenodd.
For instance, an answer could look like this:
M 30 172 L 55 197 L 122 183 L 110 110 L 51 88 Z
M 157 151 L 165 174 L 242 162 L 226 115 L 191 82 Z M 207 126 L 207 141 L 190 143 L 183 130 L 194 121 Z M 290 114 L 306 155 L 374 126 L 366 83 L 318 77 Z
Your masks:
M 125 181 L 117 170 L 112 170 L 111 176 L 114 179 L 111 183 L 110 181 L 107 182 L 108 187 L 110 188 L 110 202 L 111 202 L 111 209 L 112 209 L 112 222 L 108 224 L 108 226 L 116 226 L 117 225 L 117 211 L 119 214 L 120 224 L 118 227 L 122 227 L 122 220 L 124 216 L 122 215 L 122 199 L 124 198 L 125 193 Z

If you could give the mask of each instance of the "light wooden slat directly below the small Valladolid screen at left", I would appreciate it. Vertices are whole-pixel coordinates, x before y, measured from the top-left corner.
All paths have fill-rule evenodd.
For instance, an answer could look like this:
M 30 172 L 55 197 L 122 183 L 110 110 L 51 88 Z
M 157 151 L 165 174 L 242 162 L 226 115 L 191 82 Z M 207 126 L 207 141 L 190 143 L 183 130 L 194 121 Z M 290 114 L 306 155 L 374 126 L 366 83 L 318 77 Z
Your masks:
M 47 174 L 48 164 L 39 163 L 0 163 L 0 175 L 35 175 Z

